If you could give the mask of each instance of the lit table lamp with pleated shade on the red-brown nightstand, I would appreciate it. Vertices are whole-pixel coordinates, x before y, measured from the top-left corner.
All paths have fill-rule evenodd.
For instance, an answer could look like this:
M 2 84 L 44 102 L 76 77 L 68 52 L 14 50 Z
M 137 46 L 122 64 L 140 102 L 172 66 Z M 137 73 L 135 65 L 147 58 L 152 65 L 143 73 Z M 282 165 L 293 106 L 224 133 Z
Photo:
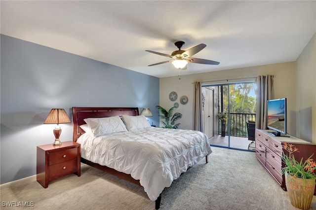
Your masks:
M 59 124 L 61 123 L 70 123 L 70 119 L 63 108 L 53 108 L 50 110 L 44 124 L 57 124 L 54 129 L 55 142 L 53 145 L 61 145 L 61 141 L 59 140 L 59 136 L 61 134 L 61 128 Z

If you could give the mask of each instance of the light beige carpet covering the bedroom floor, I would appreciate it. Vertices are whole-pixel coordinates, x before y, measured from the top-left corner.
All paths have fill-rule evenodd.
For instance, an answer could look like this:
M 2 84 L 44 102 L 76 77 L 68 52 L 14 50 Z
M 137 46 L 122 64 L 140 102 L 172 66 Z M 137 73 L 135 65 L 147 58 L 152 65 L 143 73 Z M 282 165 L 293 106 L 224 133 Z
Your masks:
M 202 159 L 164 189 L 161 210 L 297 210 L 254 152 L 212 149 L 208 164 Z M 3 210 L 155 209 L 143 187 L 87 165 L 81 166 L 80 177 L 67 175 L 50 181 L 46 189 L 37 181 L 3 186 Z M 3 202 L 33 202 L 34 206 L 7 207 Z M 316 196 L 310 210 L 316 210 Z

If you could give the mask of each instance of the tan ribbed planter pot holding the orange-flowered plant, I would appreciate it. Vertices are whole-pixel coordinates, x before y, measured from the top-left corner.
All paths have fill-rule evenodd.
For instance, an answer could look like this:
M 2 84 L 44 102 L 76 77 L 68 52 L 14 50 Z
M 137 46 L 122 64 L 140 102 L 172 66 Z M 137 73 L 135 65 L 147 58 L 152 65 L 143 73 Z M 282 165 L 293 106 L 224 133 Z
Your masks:
M 290 196 L 292 206 L 301 209 L 310 209 L 315 191 L 315 179 L 295 178 L 285 173 L 285 185 Z

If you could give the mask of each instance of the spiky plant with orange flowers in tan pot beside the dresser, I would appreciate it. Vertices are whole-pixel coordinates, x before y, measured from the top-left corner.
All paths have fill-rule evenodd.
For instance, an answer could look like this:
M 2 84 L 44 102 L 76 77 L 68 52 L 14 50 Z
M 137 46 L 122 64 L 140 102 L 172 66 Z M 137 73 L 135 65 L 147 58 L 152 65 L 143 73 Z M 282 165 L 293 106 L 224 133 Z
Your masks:
M 298 149 L 290 143 L 284 142 L 282 174 L 285 174 L 285 185 L 289 193 L 292 206 L 308 210 L 311 206 L 314 191 L 316 174 L 316 162 L 313 161 L 312 154 L 306 161 L 303 158 L 300 161 L 295 160 L 294 152 Z

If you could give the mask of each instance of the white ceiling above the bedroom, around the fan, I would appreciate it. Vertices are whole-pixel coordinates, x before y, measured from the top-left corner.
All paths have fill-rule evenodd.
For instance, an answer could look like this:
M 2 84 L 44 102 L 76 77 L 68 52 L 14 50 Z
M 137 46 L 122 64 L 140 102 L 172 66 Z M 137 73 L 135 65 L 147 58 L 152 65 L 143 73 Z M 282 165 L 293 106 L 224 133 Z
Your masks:
M 295 61 L 316 32 L 316 1 L 0 1 L 1 34 L 156 77 L 177 76 L 175 41 L 207 46 L 193 74 Z

